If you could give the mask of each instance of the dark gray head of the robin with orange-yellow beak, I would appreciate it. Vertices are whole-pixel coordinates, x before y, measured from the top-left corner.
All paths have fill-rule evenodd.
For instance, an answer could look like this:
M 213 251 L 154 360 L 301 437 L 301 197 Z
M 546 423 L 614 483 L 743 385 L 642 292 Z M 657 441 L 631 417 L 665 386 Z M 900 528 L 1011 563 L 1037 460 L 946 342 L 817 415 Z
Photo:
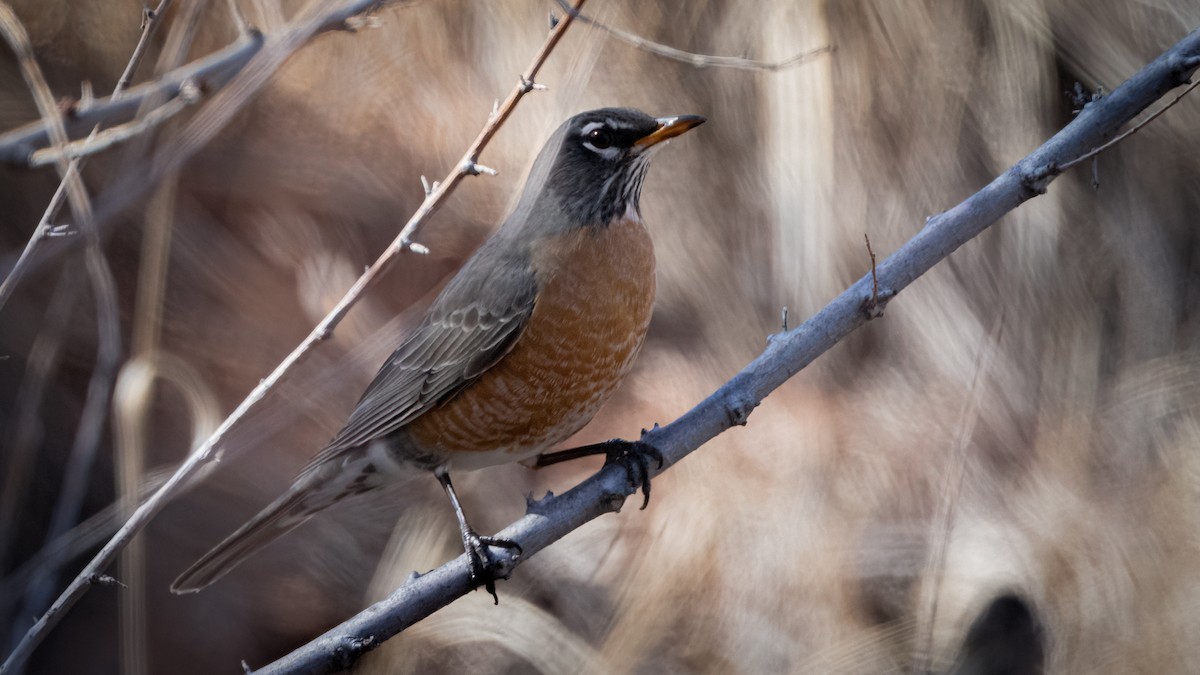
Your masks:
M 538 155 L 514 217 L 530 220 L 538 213 L 533 220 L 559 227 L 602 227 L 630 209 L 641 213 L 652 150 L 703 121 L 700 115 L 652 118 L 630 108 L 570 118 Z

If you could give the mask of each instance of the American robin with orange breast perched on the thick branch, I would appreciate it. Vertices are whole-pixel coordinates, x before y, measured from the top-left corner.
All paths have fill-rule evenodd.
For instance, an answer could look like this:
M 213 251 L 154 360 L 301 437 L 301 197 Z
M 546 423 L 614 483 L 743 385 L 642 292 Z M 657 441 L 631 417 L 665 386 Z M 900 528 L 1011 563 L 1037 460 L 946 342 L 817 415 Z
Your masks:
M 199 591 L 317 512 L 415 467 L 442 483 L 473 574 L 494 596 L 487 546 L 518 546 L 475 533 L 449 471 L 540 455 L 617 389 L 654 304 L 654 249 L 638 205 L 648 160 L 703 121 L 602 108 L 559 126 L 516 209 L 383 364 L 346 426 L 170 590 Z

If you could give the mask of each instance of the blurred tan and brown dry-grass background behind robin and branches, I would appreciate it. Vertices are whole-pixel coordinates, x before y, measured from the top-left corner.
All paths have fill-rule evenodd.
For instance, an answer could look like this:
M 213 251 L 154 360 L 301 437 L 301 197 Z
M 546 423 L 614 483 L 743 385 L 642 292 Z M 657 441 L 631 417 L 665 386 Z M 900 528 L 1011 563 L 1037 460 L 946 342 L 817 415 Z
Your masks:
M 116 83 L 140 0 L 17 0 L 55 97 Z M 268 34 L 322 2 L 238 0 Z M 418 0 L 313 38 L 178 172 L 103 228 L 124 366 L 88 461 L 101 342 L 80 246 L 56 238 L 0 309 L 0 644 L 312 329 L 454 166 L 528 65 L 552 0 Z M 646 350 L 572 443 L 666 423 L 1200 25 L 1183 0 L 590 0 L 596 22 L 779 70 L 696 67 L 576 24 L 468 179 L 37 650 L 32 673 L 260 667 L 460 549 L 437 482 L 346 503 L 199 595 L 191 561 L 278 495 L 514 203 L 566 117 L 709 123 L 655 159 Z M 136 82 L 238 40 L 180 0 Z M 178 151 L 202 102 L 84 169 L 98 202 Z M 0 49 L 0 130 L 37 119 Z M 601 518 L 371 652 L 362 673 L 1200 670 L 1200 102 L 955 252 L 734 429 Z M 53 169 L 0 167 L 0 274 Z M 116 186 L 116 187 L 114 187 Z M 122 187 L 126 186 L 126 187 Z M 55 222 L 72 222 L 64 211 Z M 110 303 L 112 304 L 112 303 Z M 113 309 L 109 306 L 108 309 Z M 101 359 L 103 363 L 103 359 Z M 84 434 L 86 436 L 86 434 Z M 86 441 L 86 438 L 84 438 Z M 80 449 L 80 446 L 83 448 Z M 72 452 L 72 448 L 76 452 Z M 455 477 L 486 532 L 598 461 Z M 60 503 L 68 490 L 77 508 Z M 77 513 L 76 513 L 77 512 Z M 60 515 L 55 516 L 55 513 Z M 56 522 L 56 524 L 55 524 Z

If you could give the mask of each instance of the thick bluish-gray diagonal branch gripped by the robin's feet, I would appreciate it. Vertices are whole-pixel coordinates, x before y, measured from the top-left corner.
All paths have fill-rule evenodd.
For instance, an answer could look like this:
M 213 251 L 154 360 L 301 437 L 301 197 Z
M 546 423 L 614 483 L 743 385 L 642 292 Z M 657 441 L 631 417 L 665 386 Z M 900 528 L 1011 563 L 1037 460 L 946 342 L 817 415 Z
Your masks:
M 1046 191 L 1062 167 L 1111 138 L 1138 113 L 1184 84 L 1200 66 L 1200 30 L 1098 101 L 1088 103 L 1062 131 L 953 209 L 925 227 L 877 269 L 838 295 L 798 328 L 773 335 L 767 350 L 742 372 L 671 424 L 646 434 L 664 455 L 661 473 L 718 434 L 745 424 L 750 412 L 780 384 L 836 345 L 852 330 L 882 313 L 883 304 L 970 241 L 1002 215 Z M 865 258 L 865 255 L 864 255 Z M 878 297 L 874 291 L 878 285 Z M 584 522 L 617 512 L 632 494 L 624 470 L 608 466 L 562 496 L 530 502 L 521 520 L 498 533 L 521 544 L 529 557 Z M 500 551 L 497 551 L 498 554 Z M 509 558 L 511 571 L 520 560 Z M 258 673 L 331 673 L 348 668 L 362 653 L 450 604 L 474 589 L 466 556 L 414 577 L 324 635 Z

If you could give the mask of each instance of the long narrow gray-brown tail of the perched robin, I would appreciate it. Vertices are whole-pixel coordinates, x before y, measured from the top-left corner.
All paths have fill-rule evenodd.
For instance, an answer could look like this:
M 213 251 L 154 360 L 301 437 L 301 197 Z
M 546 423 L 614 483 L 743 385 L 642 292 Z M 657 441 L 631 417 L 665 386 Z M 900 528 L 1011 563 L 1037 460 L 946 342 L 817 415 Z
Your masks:
M 317 485 L 300 480 L 248 522 L 204 554 L 170 585 L 173 593 L 194 593 L 224 577 L 258 549 L 287 534 L 328 504 L 314 504 Z M 323 500 L 317 500 L 323 501 Z

